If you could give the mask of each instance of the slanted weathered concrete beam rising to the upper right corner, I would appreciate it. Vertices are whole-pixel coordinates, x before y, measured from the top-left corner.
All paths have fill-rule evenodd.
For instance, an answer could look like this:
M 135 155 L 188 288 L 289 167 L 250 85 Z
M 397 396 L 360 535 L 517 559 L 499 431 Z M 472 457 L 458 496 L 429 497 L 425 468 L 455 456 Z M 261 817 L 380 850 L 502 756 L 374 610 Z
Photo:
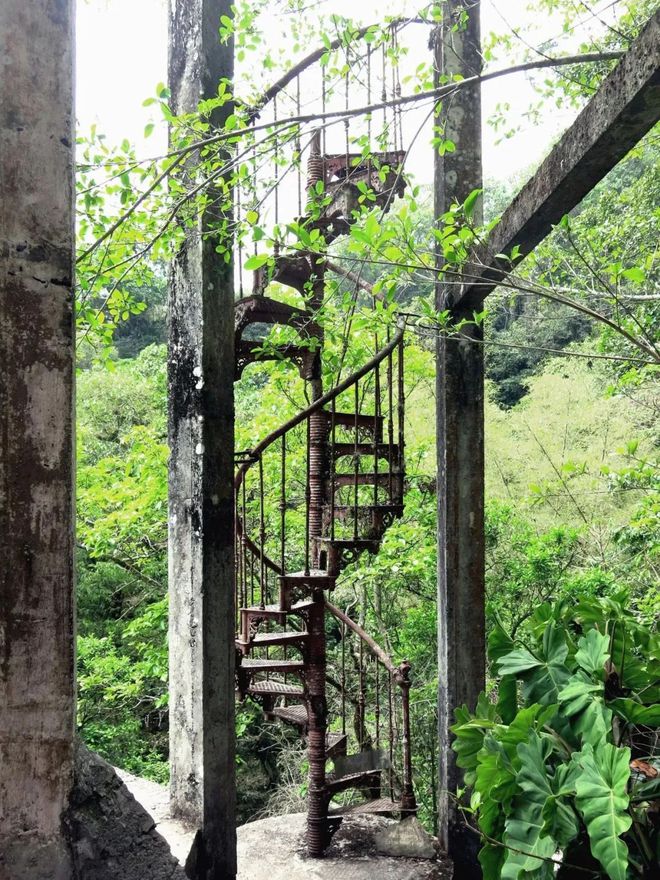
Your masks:
M 450 298 L 457 313 L 480 310 L 509 268 L 497 254 L 525 256 L 660 119 L 660 11 L 623 56 L 532 179 L 475 251 L 468 280 Z

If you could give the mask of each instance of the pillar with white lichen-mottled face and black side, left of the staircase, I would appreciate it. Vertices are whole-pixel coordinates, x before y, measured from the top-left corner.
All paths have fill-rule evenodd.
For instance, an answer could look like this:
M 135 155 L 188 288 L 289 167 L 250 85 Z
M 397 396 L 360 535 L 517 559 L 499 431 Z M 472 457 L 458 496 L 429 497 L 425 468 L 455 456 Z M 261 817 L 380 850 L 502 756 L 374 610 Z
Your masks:
M 174 0 L 175 113 L 231 80 L 229 0 Z M 216 111 L 221 126 L 229 105 Z M 234 775 L 233 269 L 211 207 L 174 260 L 169 310 L 170 763 L 172 810 L 200 829 L 191 873 L 236 873 Z

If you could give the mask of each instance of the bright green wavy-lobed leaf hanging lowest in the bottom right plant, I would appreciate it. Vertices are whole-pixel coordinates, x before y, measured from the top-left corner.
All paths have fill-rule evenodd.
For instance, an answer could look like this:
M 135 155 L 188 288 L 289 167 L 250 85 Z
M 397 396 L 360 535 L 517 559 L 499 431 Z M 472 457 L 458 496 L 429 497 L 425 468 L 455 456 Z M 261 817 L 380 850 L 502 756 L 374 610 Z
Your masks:
M 576 804 L 589 832 L 591 852 L 611 880 L 626 880 L 628 847 L 621 835 L 629 830 L 627 785 L 630 749 L 604 743 L 597 751 L 587 743 L 574 755 Z

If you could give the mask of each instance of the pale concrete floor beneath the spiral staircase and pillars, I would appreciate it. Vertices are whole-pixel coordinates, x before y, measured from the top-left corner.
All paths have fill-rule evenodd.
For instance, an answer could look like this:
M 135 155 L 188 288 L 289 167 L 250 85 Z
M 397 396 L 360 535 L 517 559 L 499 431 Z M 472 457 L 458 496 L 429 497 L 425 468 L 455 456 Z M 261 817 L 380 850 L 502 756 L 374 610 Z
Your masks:
M 194 830 L 169 815 L 169 794 L 155 782 L 117 773 L 135 799 L 153 816 L 157 830 L 183 864 Z M 451 880 L 448 860 L 384 856 L 376 851 L 375 835 L 394 820 L 351 816 L 342 823 L 324 859 L 305 854 L 303 814 L 273 816 L 237 830 L 237 880 Z

